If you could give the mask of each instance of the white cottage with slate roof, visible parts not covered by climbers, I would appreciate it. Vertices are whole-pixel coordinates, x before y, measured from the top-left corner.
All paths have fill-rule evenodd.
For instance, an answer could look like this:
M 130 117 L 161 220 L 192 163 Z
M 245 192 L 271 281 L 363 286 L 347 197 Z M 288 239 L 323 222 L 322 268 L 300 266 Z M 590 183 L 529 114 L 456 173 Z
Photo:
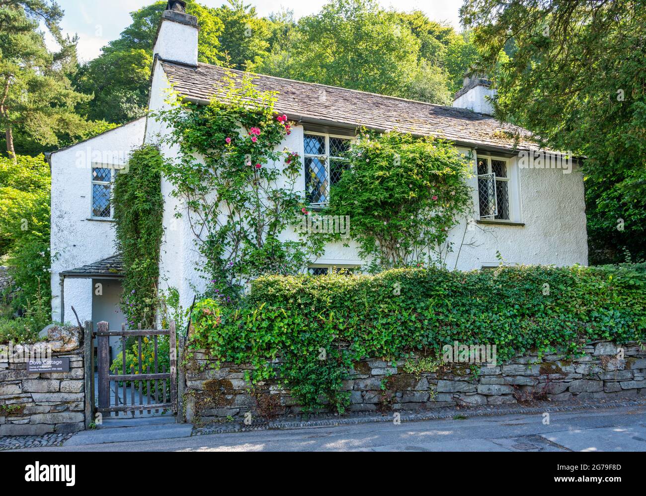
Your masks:
M 167 9 L 154 44 L 151 111 L 169 105 L 165 100 L 171 85 L 180 98 L 208 103 L 224 74 L 220 67 L 198 62 L 198 19 L 183 12 L 181 1 L 169 1 Z M 509 264 L 587 264 L 583 177 L 576 162 L 553 151 L 543 154 L 528 131 L 490 116 L 488 81 L 466 78 L 453 107 L 273 76 L 258 76 L 255 84 L 278 91 L 276 109 L 295 122 L 278 149 L 287 147 L 304 157 L 298 188 L 309 202 L 326 202 L 329 184 L 335 180 L 329 159 L 358 127 L 441 136 L 472 156 L 475 215 L 470 222 L 478 227 L 467 228 L 465 220 L 453 229 L 449 241 L 456 246 L 462 244 L 465 232 L 468 239 L 459 258 L 457 252 L 448 255 L 448 267 L 495 266 L 497 252 Z M 51 154 L 54 319 L 74 321 L 70 309 L 74 305 L 81 321 L 106 320 L 112 328 L 123 322 L 118 307 L 123 274 L 114 248 L 110 181 L 127 163 L 130 150 L 157 142 L 156 136 L 166 132 L 162 124 L 143 117 Z M 318 162 L 310 160 L 315 145 L 320 147 L 317 156 L 324 155 Z M 161 151 L 167 156 L 177 153 L 173 147 Z M 306 186 L 311 184 L 315 186 Z M 195 272 L 199 260 L 193 233 L 183 219 L 173 219 L 178 200 L 171 197 L 171 190 L 171 184 L 162 180 L 167 229 L 160 285 L 178 288 L 187 307 L 195 290 L 202 288 L 202 279 Z M 311 261 L 311 272 L 364 262 L 354 246 L 331 243 L 321 258 Z

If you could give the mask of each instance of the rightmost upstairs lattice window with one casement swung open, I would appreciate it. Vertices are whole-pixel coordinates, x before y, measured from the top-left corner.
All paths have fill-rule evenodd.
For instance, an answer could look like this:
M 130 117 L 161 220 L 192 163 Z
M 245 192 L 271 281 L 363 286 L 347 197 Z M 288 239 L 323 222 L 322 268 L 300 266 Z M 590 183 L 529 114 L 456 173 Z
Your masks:
M 509 164 L 505 158 L 477 157 L 481 219 L 510 220 Z

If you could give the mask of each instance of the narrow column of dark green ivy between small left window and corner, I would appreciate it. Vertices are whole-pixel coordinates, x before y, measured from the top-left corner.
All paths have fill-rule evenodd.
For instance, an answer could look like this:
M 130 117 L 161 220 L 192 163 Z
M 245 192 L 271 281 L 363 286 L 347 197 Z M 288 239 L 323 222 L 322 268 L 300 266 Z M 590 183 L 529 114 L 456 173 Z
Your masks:
M 132 152 L 127 173 L 114 185 L 114 220 L 118 250 L 123 257 L 121 310 L 129 326 L 152 326 L 158 305 L 157 280 L 163 195 L 160 151 L 150 145 Z

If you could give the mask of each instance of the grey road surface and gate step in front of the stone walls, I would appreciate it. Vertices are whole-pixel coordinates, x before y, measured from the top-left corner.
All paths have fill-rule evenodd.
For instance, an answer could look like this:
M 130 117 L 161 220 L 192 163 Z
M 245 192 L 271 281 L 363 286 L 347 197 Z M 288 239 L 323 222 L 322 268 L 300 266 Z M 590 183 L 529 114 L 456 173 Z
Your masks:
M 646 406 L 210 435 L 171 420 L 21 451 L 646 451 Z

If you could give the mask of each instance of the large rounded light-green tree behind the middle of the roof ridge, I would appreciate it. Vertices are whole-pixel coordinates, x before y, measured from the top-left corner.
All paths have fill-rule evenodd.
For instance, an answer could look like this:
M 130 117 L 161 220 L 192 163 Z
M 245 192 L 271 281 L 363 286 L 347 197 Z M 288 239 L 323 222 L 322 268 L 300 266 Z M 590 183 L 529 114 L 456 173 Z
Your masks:
M 446 85 L 437 92 L 439 76 L 428 86 L 421 77 L 419 39 L 375 0 L 333 0 L 318 14 L 302 17 L 297 33 L 287 28 L 286 34 L 289 43 L 272 50 L 259 72 L 446 103 Z

